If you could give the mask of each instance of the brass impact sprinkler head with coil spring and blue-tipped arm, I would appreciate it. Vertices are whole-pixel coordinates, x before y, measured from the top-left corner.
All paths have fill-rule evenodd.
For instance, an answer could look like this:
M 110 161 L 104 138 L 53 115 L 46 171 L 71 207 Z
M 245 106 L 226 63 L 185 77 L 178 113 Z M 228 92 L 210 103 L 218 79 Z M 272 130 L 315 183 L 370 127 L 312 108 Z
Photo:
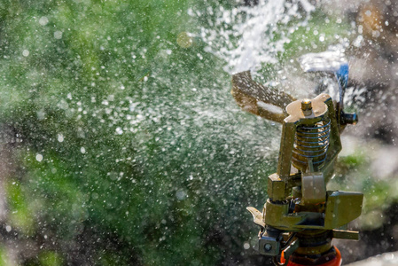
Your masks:
M 341 151 L 340 134 L 357 121 L 355 113 L 344 113 L 348 65 L 330 52 L 299 60 L 304 72 L 332 75 L 338 96 L 296 99 L 254 82 L 249 71 L 232 76 L 239 106 L 282 123 L 277 173 L 268 177 L 269 199 L 262 212 L 247 209 L 261 228 L 258 251 L 272 256 L 276 265 L 340 265 L 332 239 L 359 239 L 357 231 L 341 228 L 361 215 L 363 204 L 363 193 L 326 190 Z

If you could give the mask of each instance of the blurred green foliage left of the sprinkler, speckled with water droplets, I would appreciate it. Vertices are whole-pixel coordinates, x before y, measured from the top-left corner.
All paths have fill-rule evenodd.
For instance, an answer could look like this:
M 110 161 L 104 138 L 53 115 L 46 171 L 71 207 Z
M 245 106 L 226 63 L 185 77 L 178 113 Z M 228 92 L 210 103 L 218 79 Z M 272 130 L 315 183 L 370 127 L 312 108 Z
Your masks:
M 237 3 L 0 2 L 4 226 L 30 241 L 21 264 L 245 260 L 256 231 L 245 208 L 267 197 L 279 128 L 238 109 L 205 43 L 176 43 L 216 19 L 189 8 L 218 5 Z M 322 50 L 317 39 L 300 51 Z

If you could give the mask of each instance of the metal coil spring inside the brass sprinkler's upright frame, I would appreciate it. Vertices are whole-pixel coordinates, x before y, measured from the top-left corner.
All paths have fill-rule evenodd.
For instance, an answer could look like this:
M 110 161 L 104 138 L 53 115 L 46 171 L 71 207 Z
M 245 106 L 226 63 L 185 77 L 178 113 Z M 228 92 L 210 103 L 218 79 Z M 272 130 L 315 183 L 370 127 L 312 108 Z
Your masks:
M 319 170 L 324 166 L 329 147 L 331 121 L 319 121 L 313 126 L 297 127 L 293 145 L 293 166 L 301 171 L 308 169 L 308 161 Z

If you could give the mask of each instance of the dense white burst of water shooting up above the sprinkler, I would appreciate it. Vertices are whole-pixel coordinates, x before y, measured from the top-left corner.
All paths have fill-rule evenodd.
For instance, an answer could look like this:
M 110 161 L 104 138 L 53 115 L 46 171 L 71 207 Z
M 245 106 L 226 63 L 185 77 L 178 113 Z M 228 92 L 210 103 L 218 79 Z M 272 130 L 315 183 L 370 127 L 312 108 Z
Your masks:
M 215 27 L 201 28 L 207 51 L 226 61 L 224 70 L 237 73 L 277 63 L 277 54 L 299 27 L 306 26 L 316 7 L 307 0 L 266 1 L 215 12 Z M 294 23 L 290 23 L 294 20 Z

